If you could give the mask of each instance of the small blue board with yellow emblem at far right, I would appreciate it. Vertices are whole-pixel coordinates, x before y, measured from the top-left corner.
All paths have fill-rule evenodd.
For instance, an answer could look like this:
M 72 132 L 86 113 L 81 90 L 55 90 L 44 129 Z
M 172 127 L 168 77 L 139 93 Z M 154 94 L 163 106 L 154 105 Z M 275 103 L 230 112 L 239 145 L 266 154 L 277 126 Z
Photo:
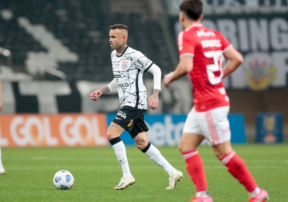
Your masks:
M 256 142 L 282 142 L 282 114 L 258 113 L 256 115 Z

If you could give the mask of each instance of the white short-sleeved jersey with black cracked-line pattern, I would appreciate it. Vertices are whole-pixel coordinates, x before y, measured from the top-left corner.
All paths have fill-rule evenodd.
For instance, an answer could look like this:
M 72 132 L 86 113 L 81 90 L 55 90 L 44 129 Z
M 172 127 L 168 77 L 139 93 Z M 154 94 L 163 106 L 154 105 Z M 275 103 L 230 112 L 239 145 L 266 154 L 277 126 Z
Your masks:
M 142 76 L 153 62 L 143 53 L 129 46 L 121 55 L 117 55 L 116 50 L 112 51 L 111 60 L 118 87 L 120 107 L 129 105 L 139 109 L 147 109 L 147 94 Z

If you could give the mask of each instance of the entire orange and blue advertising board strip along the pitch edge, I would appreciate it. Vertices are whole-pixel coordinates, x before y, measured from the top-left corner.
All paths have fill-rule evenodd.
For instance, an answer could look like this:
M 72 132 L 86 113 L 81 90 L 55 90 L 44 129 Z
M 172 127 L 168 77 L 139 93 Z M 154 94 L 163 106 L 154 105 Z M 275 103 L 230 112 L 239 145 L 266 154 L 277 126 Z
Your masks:
M 115 114 L 17 114 L 0 116 L 1 147 L 108 146 L 107 126 Z M 186 115 L 146 115 L 147 136 L 153 145 L 177 146 Z M 244 119 L 229 115 L 232 143 L 245 143 Z M 125 145 L 134 145 L 128 132 Z

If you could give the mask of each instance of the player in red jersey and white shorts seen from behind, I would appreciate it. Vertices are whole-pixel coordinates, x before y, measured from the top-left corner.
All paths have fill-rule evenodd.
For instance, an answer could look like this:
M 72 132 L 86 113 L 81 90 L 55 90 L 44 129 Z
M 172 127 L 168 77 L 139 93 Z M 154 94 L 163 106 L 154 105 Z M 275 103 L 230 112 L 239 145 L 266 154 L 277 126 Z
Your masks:
M 243 57 L 220 32 L 201 24 L 202 9 L 200 0 L 185 0 L 180 4 L 179 21 L 183 27 L 178 35 L 180 61 L 176 70 L 163 79 L 164 85 L 169 87 L 173 81 L 189 74 L 193 84 L 194 106 L 187 116 L 179 143 L 186 169 L 196 187 L 192 202 L 212 202 L 204 165 L 197 151 L 204 138 L 230 174 L 244 185 L 249 202 L 264 202 L 268 193 L 258 187 L 230 142 L 227 118 L 230 101 L 222 79 L 238 68 Z M 224 57 L 229 61 L 223 68 Z

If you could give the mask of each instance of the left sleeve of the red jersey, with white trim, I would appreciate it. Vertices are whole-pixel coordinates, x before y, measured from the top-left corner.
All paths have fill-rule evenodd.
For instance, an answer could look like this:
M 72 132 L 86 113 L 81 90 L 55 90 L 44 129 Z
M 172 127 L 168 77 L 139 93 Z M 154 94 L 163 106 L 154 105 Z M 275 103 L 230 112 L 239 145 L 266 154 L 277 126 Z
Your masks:
M 189 55 L 194 57 L 195 43 L 189 38 L 188 32 L 181 31 L 178 35 L 179 57 Z

